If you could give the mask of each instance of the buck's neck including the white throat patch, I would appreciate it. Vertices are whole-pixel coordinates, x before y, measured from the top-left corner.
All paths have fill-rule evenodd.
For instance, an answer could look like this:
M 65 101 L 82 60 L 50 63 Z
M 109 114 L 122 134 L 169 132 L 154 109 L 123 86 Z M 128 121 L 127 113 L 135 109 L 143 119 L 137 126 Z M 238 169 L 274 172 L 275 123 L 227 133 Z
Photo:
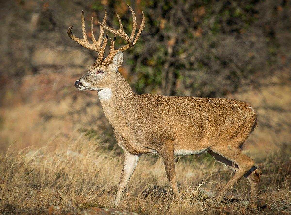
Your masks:
M 136 116 L 137 96 L 120 74 L 109 88 L 98 91 L 98 96 L 106 118 L 114 130 L 124 137 L 131 131 L 132 117 Z

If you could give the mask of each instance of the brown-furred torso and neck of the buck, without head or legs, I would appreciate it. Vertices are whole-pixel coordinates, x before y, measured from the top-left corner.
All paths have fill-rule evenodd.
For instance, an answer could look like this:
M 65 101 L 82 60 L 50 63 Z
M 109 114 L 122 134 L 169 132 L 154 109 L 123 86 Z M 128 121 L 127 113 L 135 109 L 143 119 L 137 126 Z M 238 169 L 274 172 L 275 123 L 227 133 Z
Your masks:
M 164 140 L 175 149 L 201 150 L 222 142 L 236 149 L 251 133 L 257 116 L 247 103 L 226 98 L 135 95 L 117 73 L 112 98 L 103 101 L 104 112 L 132 153 L 157 150 Z M 228 146 L 228 145 L 226 145 Z

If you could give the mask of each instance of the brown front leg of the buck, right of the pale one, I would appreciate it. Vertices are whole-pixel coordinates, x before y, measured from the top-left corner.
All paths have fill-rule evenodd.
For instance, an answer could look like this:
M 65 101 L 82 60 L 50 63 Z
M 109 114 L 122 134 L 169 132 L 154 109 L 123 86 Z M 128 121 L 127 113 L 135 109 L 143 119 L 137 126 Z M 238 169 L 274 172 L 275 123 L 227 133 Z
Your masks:
M 160 149 L 159 154 L 161 155 L 166 175 L 170 182 L 171 188 L 177 198 L 180 198 L 180 193 L 177 186 L 176 181 L 176 172 L 175 172 L 175 163 L 174 163 L 174 146 L 170 143 L 170 145 L 166 144 L 163 149 Z

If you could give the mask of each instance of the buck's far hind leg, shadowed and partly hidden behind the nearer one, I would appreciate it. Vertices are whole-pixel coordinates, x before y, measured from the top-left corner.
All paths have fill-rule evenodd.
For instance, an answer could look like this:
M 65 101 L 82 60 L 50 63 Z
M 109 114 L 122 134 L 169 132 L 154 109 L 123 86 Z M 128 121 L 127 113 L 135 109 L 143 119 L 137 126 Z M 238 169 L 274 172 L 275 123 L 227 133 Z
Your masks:
M 238 166 L 231 162 L 230 160 L 226 159 L 225 157 L 221 156 L 220 154 L 217 154 L 211 149 L 208 151 L 208 153 L 219 163 L 222 163 L 226 165 L 231 170 L 237 172 Z M 258 191 L 259 191 L 259 185 L 260 185 L 260 178 L 262 175 L 262 170 L 260 168 L 257 168 L 253 166 L 246 174 L 244 174 L 244 177 L 248 179 L 249 183 L 251 184 L 251 199 L 256 199 L 258 197 Z

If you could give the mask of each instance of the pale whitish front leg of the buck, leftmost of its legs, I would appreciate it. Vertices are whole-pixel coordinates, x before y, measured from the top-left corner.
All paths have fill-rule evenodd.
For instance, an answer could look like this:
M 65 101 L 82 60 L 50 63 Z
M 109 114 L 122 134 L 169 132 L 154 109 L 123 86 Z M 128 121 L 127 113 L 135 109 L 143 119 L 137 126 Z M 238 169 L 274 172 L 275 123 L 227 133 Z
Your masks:
M 120 199 L 127 187 L 128 181 L 136 167 L 137 161 L 139 160 L 140 156 L 141 155 L 138 155 L 138 154 L 131 154 L 127 150 L 124 151 L 124 165 L 123 165 L 123 170 L 121 172 L 121 176 L 120 176 L 120 180 L 118 184 L 117 194 L 113 203 L 114 206 L 118 206 Z

